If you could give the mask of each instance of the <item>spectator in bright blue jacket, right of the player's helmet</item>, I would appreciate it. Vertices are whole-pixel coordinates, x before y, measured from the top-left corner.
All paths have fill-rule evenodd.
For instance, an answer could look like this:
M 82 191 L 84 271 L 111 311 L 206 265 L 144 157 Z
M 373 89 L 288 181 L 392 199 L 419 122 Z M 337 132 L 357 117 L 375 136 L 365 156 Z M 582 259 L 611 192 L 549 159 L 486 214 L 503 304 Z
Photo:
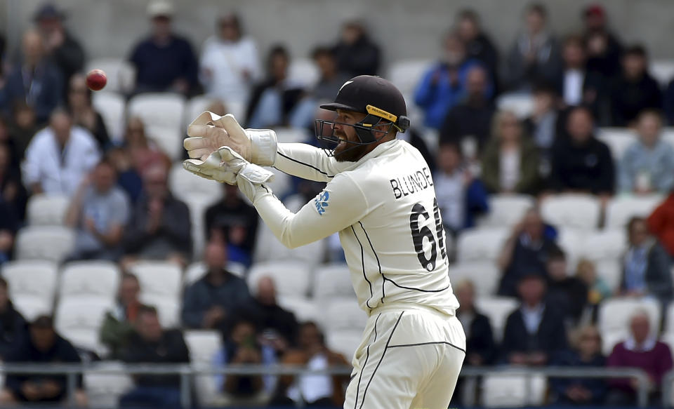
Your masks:
M 425 126 L 440 130 L 449 109 L 458 105 L 467 94 L 468 72 L 482 62 L 469 60 L 463 42 L 457 34 L 449 33 L 444 39 L 444 56 L 421 77 L 414 91 L 414 102 L 423 109 Z M 494 86 L 491 81 L 484 90 L 484 98 L 491 98 Z

